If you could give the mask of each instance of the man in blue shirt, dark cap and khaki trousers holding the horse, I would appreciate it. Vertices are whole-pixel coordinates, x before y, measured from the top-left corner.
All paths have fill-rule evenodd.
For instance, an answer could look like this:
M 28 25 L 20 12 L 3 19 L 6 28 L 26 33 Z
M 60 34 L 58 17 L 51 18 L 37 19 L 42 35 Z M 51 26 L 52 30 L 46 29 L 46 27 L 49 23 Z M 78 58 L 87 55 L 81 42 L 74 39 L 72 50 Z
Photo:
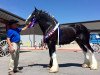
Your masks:
M 9 75 L 13 75 L 18 72 L 18 61 L 19 61 L 19 51 L 20 51 L 20 32 L 21 30 L 26 30 L 28 25 L 24 28 L 18 28 L 17 20 L 10 20 L 8 25 L 9 29 L 7 31 L 7 43 L 9 46 L 10 60 L 9 60 Z

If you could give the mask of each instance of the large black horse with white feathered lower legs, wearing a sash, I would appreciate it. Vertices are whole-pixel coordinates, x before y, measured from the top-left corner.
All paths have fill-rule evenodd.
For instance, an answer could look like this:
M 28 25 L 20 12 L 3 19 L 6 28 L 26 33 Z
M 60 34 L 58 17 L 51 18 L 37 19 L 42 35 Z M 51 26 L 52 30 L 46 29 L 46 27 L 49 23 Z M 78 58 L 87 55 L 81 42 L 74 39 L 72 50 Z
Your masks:
M 33 13 L 26 20 L 26 23 L 31 23 L 32 20 L 35 19 L 34 25 L 39 24 L 43 35 L 47 35 L 49 31 L 54 28 L 58 22 L 57 20 L 46 13 L 45 11 L 38 10 L 35 8 Z M 76 41 L 80 48 L 83 50 L 85 60 L 83 63 L 83 67 L 89 67 L 90 69 L 97 69 L 97 61 L 94 56 L 94 50 L 91 48 L 89 44 L 90 33 L 88 29 L 82 24 L 72 24 L 72 25 L 60 25 L 60 37 L 59 44 L 69 44 L 72 41 Z M 58 30 L 47 39 L 44 39 L 44 42 L 47 43 L 50 54 L 50 72 L 58 71 L 58 62 L 56 58 L 56 47 L 58 39 Z

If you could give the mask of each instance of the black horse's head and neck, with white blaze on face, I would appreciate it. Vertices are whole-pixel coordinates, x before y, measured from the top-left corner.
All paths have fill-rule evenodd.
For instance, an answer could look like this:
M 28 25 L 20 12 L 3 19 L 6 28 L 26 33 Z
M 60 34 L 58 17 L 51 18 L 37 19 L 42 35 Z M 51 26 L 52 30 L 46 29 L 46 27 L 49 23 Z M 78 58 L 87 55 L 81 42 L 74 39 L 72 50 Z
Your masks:
M 35 8 L 32 14 L 26 19 L 26 23 L 30 24 L 31 27 L 34 27 L 34 25 L 37 25 L 36 23 L 38 23 L 42 31 L 45 33 L 58 22 L 53 16 L 49 15 L 45 11 Z

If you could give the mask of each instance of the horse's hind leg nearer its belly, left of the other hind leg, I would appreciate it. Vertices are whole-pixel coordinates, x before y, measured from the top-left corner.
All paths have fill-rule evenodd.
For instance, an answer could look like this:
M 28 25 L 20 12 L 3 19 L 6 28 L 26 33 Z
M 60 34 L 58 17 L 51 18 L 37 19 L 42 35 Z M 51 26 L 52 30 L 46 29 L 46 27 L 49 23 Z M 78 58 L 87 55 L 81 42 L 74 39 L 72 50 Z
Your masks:
M 82 64 L 82 67 L 88 68 L 90 66 L 90 61 L 89 61 L 87 48 L 82 44 L 82 41 L 80 39 L 76 39 L 76 42 L 78 43 L 80 48 L 83 50 L 83 54 L 84 54 L 84 63 Z

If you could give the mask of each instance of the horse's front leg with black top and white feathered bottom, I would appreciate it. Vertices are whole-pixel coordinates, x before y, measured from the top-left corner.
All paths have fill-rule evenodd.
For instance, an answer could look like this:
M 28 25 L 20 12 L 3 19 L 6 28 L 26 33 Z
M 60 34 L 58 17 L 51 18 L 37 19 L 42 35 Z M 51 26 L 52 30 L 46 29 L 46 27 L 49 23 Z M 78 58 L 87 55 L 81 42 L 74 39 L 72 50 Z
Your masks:
M 49 45 L 49 54 L 50 54 L 50 72 L 55 73 L 58 72 L 58 61 L 57 61 L 57 55 L 55 50 L 55 45 Z

